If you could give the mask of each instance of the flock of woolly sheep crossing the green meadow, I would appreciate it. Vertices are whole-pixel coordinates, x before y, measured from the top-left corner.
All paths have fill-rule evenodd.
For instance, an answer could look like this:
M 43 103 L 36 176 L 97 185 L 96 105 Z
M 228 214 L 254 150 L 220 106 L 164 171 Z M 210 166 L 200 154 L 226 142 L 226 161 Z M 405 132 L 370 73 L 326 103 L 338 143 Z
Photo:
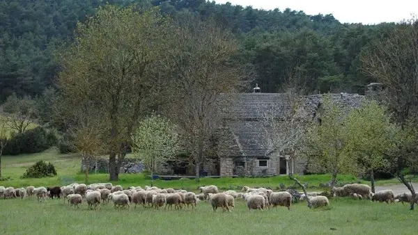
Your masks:
M 102 184 L 77 184 L 73 183 L 68 186 L 56 186 L 53 188 L 28 186 L 27 188 L 4 188 L 0 186 L 0 197 L 4 199 L 16 197 L 37 197 L 38 202 L 45 201 L 47 197 L 61 198 L 63 197 L 64 204 L 67 202 L 70 206 L 77 206 L 83 202 L 87 202 L 88 209 L 100 209 L 102 204 L 112 202 L 115 209 L 128 208 L 133 203 L 134 208 L 137 204 L 142 206 L 150 206 L 155 209 L 164 209 L 169 207 L 172 209 L 182 209 L 183 207 L 192 209 L 196 208 L 199 201 L 209 202 L 213 211 L 217 208 L 222 208 L 222 211 L 231 211 L 235 206 L 235 200 L 245 200 L 249 211 L 251 209 L 270 209 L 276 206 L 285 206 L 291 210 L 293 196 L 288 191 L 274 192 L 267 188 L 249 188 L 244 186 L 242 192 L 224 191 L 219 192 L 217 186 L 203 186 L 199 194 L 187 192 L 185 190 L 174 190 L 173 188 L 161 189 L 157 187 L 145 186 L 141 188 L 129 187 L 123 189 L 122 186 L 113 186 L 111 183 Z M 343 187 L 332 188 L 331 195 L 333 197 L 355 197 L 358 199 L 369 199 L 371 201 L 379 202 L 410 202 L 412 195 L 410 193 L 401 193 L 394 195 L 392 190 L 379 191 L 378 193 L 371 193 L 370 186 L 366 184 L 346 184 Z M 299 199 L 298 199 L 299 200 Z M 327 197 L 320 195 L 320 193 L 307 193 L 300 197 L 300 200 L 307 200 L 309 208 L 317 208 L 320 206 L 328 206 L 330 202 Z M 417 200 L 417 198 L 415 199 Z

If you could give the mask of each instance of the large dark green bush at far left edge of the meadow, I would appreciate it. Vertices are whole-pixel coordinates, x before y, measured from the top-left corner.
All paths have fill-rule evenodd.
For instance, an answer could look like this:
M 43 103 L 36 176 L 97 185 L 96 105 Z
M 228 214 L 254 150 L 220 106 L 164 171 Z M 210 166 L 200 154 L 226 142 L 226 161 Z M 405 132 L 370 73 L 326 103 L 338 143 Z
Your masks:
M 22 133 L 17 133 L 8 139 L 7 145 L 3 149 L 3 154 L 33 154 L 42 152 L 56 145 L 56 143 L 57 138 L 53 131 L 49 131 L 43 127 L 36 127 Z

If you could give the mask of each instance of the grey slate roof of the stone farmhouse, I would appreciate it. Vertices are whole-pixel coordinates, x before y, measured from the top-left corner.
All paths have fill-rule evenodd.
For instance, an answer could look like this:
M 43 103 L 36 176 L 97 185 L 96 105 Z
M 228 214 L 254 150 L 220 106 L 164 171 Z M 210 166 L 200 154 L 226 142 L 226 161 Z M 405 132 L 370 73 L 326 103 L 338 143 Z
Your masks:
M 239 93 L 234 94 L 228 108 L 222 108 L 229 129 L 229 137 L 233 138 L 230 148 L 238 149 L 229 156 L 265 157 L 272 152 L 268 140 L 264 138 L 265 122 L 261 122 L 263 113 L 274 109 L 274 118 L 284 118 L 291 113 L 289 98 L 281 93 Z M 343 108 L 353 108 L 360 105 L 362 95 L 332 94 L 332 99 Z M 309 95 L 303 98 L 301 115 L 307 121 L 312 120 L 322 95 Z M 261 130 L 261 131 L 257 131 Z M 231 150 L 231 149 L 230 149 Z

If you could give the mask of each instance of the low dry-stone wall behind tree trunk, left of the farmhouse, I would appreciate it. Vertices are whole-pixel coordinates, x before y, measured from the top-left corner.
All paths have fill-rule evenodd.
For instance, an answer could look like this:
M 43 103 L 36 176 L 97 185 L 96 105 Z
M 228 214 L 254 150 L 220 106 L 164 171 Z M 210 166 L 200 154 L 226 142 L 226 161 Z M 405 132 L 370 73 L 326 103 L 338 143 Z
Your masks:
M 82 171 L 86 168 L 94 172 L 109 172 L 109 159 L 95 158 L 82 159 Z M 123 159 L 120 173 L 140 173 L 144 171 L 144 164 L 141 159 Z

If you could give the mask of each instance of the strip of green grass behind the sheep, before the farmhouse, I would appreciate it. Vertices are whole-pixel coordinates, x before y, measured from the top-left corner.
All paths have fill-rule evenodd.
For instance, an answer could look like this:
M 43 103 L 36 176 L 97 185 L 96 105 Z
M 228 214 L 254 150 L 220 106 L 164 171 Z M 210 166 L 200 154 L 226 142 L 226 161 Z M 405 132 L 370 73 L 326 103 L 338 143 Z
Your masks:
M 56 177 L 45 177 L 40 179 L 20 179 L 23 173 L 29 166 L 36 163 L 36 161 L 43 160 L 51 162 L 55 165 L 58 175 Z M 70 184 L 72 181 L 84 183 L 84 174 L 80 173 L 80 158 L 79 154 L 59 154 L 56 148 L 49 149 L 39 154 L 22 154 L 18 156 L 2 156 L 1 163 L 2 177 L 10 177 L 11 180 L 0 181 L 1 186 L 13 186 L 15 188 L 22 186 L 56 186 L 63 184 Z M 330 181 L 330 175 L 304 175 L 299 176 L 298 179 L 303 182 L 308 182 L 309 186 L 318 187 L 320 183 Z M 339 175 L 338 180 L 341 182 L 357 181 L 356 177 L 352 175 Z M 88 177 L 88 184 L 107 182 L 109 181 L 108 174 L 90 174 Z M 370 182 L 362 181 L 365 184 Z M 112 182 L 113 184 L 120 184 L 123 187 L 127 186 L 145 186 L 150 185 L 149 177 L 143 174 L 121 174 L 119 181 Z M 250 187 L 270 187 L 277 189 L 280 184 L 286 186 L 293 186 L 294 182 L 287 176 L 265 177 L 265 178 L 220 178 L 210 179 L 202 178 L 199 184 L 196 184 L 194 179 L 187 180 L 173 180 L 154 181 L 155 186 L 161 188 L 184 188 L 186 190 L 196 190 L 203 185 L 215 184 L 220 189 L 227 190 L 242 188 L 242 186 Z M 390 179 L 385 181 L 378 181 L 377 185 L 399 184 L 397 179 Z M 309 191 L 316 191 L 316 188 L 309 188 Z

